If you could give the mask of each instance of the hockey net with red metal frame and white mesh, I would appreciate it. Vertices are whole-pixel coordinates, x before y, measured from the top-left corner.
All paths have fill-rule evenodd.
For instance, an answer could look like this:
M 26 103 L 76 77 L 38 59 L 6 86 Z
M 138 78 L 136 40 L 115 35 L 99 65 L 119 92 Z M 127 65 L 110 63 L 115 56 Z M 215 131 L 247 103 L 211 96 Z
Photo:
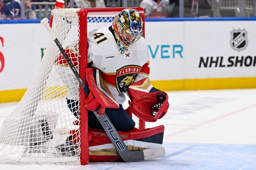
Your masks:
M 71 61 L 83 81 L 87 67 L 87 32 L 110 26 L 114 16 L 123 9 L 52 11 L 53 32 L 63 48 L 68 49 L 68 55 L 72 56 Z M 142 10 L 139 8 L 139 11 Z M 85 94 L 70 68 L 58 56 L 59 49 L 51 39 L 27 92 L 2 124 L 1 162 L 81 161 L 83 165 L 88 164 Z M 125 107 L 128 107 L 128 102 L 124 103 Z M 137 128 L 145 128 L 143 121 L 136 117 L 134 121 Z M 72 131 L 76 134 L 76 143 L 68 139 Z

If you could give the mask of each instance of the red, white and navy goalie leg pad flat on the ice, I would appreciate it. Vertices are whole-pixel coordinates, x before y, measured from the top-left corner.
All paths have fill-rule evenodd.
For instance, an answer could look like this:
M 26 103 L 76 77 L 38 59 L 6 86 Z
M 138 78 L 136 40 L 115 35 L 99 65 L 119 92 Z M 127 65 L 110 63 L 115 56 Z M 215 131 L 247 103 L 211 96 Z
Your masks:
M 104 130 L 88 129 L 88 133 L 92 137 L 89 141 L 89 161 L 123 161 Z M 164 126 L 161 125 L 144 130 L 133 128 L 129 132 L 118 133 L 130 151 L 139 151 L 161 147 L 163 143 Z

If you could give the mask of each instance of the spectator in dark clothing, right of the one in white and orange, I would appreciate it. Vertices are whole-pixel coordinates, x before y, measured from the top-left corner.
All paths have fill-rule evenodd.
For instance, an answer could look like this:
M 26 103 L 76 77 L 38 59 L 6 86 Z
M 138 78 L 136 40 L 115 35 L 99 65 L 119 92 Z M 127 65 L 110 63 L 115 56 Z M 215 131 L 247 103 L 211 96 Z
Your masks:
M 168 17 L 179 17 L 179 0 L 170 0 L 175 4 Z M 184 0 L 184 17 L 212 17 L 212 7 L 207 0 Z

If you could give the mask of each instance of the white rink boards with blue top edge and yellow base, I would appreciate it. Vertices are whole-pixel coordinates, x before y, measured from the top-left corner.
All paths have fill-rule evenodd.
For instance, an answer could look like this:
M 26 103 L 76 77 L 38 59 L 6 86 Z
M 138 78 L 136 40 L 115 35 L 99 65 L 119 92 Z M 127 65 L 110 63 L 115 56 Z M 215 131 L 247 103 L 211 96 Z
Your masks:
M 255 18 L 146 19 L 152 84 L 165 91 L 256 87 Z M 0 22 L 0 102 L 18 101 L 49 41 L 39 20 Z

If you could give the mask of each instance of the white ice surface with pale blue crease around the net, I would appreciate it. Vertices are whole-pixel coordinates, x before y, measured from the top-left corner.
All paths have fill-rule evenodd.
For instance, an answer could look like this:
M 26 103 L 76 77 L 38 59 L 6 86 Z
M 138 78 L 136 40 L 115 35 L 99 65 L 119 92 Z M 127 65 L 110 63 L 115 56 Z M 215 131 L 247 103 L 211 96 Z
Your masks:
M 10 170 L 256 169 L 256 89 L 168 92 L 168 113 L 146 127 L 164 125 L 166 156 L 124 163 L 2 164 Z M 0 125 L 17 102 L 0 104 Z

